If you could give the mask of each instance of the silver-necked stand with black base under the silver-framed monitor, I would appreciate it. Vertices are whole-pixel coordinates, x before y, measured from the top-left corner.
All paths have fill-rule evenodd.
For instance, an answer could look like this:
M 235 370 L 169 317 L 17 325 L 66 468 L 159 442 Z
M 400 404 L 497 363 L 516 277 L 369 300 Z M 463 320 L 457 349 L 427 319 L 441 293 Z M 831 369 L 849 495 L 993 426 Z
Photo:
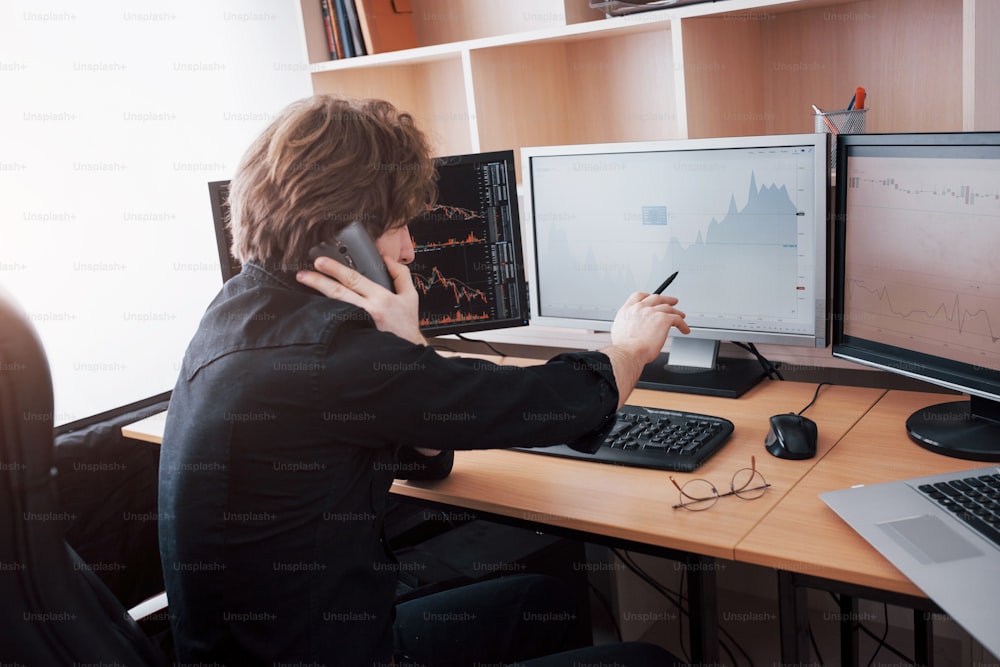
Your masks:
M 646 364 L 637 387 L 739 398 L 767 373 L 756 359 L 719 358 L 719 341 L 672 338 L 670 353 Z

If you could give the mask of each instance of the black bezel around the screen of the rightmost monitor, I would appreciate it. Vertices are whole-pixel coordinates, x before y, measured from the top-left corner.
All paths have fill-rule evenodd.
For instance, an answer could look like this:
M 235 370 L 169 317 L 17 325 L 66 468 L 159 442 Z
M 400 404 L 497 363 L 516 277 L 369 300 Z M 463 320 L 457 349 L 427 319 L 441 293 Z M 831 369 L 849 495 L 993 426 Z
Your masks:
M 969 153 L 985 154 L 989 147 L 1000 159 L 1000 132 L 910 132 L 884 134 L 840 135 L 837 142 L 838 184 L 847 182 L 851 158 L 860 150 L 883 151 L 886 157 L 903 151 L 931 149 L 941 157 L 962 157 Z M 946 155 L 950 153 L 950 155 Z M 854 363 L 927 382 L 970 396 L 1000 401 L 1000 369 L 977 367 L 946 357 L 906 350 L 859 336 L 849 336 L 844 331 L 846 322 L 845 285 L 846 257 L 843 248 L 847 242 L 847 188 L 837 187 L 835 192 L 833 226 L 834 274 L 832 281 L 832 330 L 831 351 L 834 357 Z

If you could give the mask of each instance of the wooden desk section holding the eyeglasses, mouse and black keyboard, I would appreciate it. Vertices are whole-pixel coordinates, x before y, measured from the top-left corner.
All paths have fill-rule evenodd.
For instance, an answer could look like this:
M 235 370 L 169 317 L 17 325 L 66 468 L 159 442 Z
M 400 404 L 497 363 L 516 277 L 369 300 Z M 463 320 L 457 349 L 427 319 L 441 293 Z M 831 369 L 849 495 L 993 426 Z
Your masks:
M 797 412 L 816 385 L 764 382 L 733 400 L 637 389 L 629 403 L 714 414 L 730 419 L 730 441 L 694 473 L 665 473 L 542 456 L 487 450 L 459 452 L 447 479 L 397 481 L 393 493 L 452 507 L 623 541 L 734 559 L 736 545 L 884 393 L 881 389 L 827 386 L 807 413 L 819 426 L 817 458 L 788 461 L 764 450 L 768 417 Z M 760 499 L 723 498 L 711 510 L 671 509 L 680 482 L 704 477 L 725 489 L 740 468 L 757 457 L 771 488 Z

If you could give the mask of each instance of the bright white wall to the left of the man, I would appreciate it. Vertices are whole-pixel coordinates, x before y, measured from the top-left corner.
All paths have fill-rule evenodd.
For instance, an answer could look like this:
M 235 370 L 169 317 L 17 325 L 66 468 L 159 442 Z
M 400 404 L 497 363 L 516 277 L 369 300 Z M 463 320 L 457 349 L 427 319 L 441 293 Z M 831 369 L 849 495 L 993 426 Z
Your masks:
M 295 0 L 2 0 L 0 288 L 56 424 L 173 387 L 222 283 L 206 183 L 311 92 Z

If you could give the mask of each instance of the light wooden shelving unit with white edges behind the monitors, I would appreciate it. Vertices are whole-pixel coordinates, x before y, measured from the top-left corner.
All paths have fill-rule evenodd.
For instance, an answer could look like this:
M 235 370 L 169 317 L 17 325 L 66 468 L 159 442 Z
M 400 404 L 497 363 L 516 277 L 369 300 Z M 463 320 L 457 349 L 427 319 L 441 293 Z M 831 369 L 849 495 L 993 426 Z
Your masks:
M 859 85 L 868 132 L 1000 129 L 997 0 L 716 0 L 615 18 L 588 0 L 409 0 L 416 46 L 335 61 L 319 0 L 301 3 L 314 91 L 387 99 L 442 155 L 812 132 L 812 105 L 843 109 Z M 829 350 L 765 353 L 837 365 Z

